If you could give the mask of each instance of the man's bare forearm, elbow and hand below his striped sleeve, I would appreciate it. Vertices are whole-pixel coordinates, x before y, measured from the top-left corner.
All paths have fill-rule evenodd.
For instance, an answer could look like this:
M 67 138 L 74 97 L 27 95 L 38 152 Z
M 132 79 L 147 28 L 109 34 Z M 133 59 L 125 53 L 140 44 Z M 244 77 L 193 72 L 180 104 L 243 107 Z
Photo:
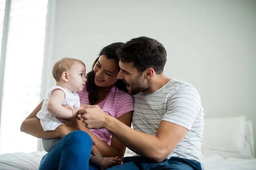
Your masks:
M 82 109 L 81 118 L 90 129 L 108 129 L 113 136 L 141 156 L 163 161 L 184 138 L 188 130 L 185 127 L 161 121 L 156 136 L 138 132 L 123 124 L 113 116 L 106 114 L 97 105 Z

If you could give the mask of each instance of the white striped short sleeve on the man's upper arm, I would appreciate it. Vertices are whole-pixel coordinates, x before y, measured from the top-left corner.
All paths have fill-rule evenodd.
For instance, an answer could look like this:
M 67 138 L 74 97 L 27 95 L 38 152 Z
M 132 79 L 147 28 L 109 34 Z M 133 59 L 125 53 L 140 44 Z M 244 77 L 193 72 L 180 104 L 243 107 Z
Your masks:
M 194 87 L 180 88 L 168 100 L 162 120 L 190 130 L 201 109 L 201 98 Z

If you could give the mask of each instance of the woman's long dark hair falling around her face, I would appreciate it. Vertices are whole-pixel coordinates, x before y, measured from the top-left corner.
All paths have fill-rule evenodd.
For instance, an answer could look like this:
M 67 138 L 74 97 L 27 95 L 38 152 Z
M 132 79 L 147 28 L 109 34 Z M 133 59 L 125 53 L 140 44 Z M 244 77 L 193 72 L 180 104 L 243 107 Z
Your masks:
M 119 59 L 116 55 L 116 50 L 118 48 L 120 48 L 122 44 L 123 44 L 123 42 L 115 42 L 108 46 L 105 46 L 99 52 L 98 58 L 96 58 L 96 60 L 93 62 L 92 71 L 90 71 L 87 74 L 87 82 L 86 82 L 86 90 L 88 91 L 88 99 L 89 99 L 90 105 L 94 105 L 99 100 L 99 94 L 97 91 L 98 86 L 96 86 L 96 84 L 94 82 L 95 74 L 93 71 L 93 68 L 94 68 L 96 62 L 98 61 L 98 59 L 101 55 L 105 55 L 108 59 L 114 59 L 118 63 Z M 117 67 L 118 67 L 118 69 L 120 69 L 119 65 L 117 65 Z M 127 92 L 126 84 L 121 79 L 117 80 L 117 82 L 115 83 L 115 86 L 116 86 L 116 88 L 118 88 L 124 92 Z

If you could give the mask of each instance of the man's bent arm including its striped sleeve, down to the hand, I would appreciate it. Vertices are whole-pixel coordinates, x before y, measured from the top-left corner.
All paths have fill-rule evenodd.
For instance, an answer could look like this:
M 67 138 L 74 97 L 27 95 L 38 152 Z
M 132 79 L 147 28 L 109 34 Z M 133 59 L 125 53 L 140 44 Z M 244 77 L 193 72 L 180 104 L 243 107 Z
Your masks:
M 166 108 L 156 136 L 141 133 L 123 125 L 98 106 L 87 106 L 81 117 L 86 127 L 106 128 L 135 153 L 161 162 L 192 127 L 201 108 L 200 96 L 194 88 L 185 87 L 176 91 L 176 94 L 167 101 Z

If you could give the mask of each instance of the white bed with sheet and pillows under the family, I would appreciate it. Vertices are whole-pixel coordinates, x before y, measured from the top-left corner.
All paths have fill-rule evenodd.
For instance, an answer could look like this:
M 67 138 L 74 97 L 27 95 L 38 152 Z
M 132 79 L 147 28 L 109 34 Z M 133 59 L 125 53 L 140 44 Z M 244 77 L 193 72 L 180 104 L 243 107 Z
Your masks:
M 207 170 L 256 170 L 253 127 L 244 116 L 205 119 L 203 143 Z M 0 155 L 0 170 L 38 170 L 45 154 L 37 151 Z M 133 155 L 127 149 L 125 156 Z

